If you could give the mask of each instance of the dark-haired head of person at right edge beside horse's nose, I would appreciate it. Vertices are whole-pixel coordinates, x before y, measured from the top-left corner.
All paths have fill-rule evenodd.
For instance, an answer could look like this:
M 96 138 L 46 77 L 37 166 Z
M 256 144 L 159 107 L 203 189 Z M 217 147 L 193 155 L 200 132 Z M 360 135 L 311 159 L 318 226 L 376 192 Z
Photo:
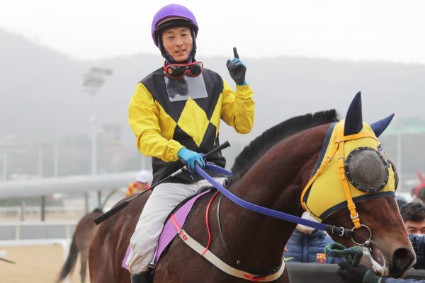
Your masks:
M 404 226 L 409 234 L 425 234 L 425 205 L 409 202 L 400 209 Z

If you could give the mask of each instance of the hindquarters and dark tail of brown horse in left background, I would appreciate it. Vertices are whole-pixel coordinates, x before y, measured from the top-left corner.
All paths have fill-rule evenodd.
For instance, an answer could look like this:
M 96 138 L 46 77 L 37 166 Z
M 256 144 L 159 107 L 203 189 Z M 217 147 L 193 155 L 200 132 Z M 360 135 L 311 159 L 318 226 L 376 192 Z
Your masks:
M 101 216 L 103 211 L 101 208 L 94 209 L 93 212 L 81 217 L 78 221 L 77 226 L 75 227 L 74 235 L 72 236 L 71 246 L 69 247 L 69 253 L 67 260 L 65 260 L 64 265 L 60 271 L 60 275 L 56 280 L 56 283 L 62 282 L 62 280 L 69 275 L 75 267 L 77 262 L 78 253 L 80 254 L 80 277 L 81 283 L 86 282 L 86 270 L 87 263 L 89 260 L 89 247 L 91 239 L 94 236 L 94 233 L 98 229 L 98 226 L 94 224 L 94 219 L 98 216 Z

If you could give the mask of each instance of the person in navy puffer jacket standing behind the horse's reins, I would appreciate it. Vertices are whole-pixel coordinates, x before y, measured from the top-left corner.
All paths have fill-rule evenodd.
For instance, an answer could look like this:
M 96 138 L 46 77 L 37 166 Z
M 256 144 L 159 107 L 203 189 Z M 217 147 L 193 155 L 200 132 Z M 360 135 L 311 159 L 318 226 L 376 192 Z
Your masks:
M 316 221 L 308 212 L 304 212 L 302 218 Z M 298 224 L 283 255 L 288 262 L 337 263 L 338 258 L 327 258 L 324 253 L 324 247 L 329 243 L 333 241 L 326 232 Z

